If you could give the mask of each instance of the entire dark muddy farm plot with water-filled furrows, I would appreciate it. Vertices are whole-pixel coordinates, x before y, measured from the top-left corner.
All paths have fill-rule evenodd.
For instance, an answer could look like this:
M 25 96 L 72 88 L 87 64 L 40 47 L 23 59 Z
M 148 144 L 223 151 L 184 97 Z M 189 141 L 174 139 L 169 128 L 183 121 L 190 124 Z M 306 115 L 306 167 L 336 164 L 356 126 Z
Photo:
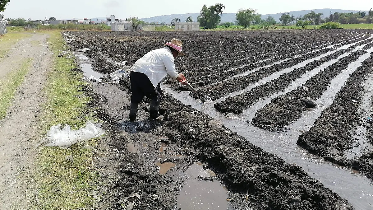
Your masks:
M 119 201 L 137 192 L 141 194 L 136 203 L 137 209 L 188 209 L 180 206 L 184 205 L 184 201 L 200 209 L 208 209 L 201 206 L 203 204 L 198 199 L 196 203 L 187 200 L 188 192 L 185 192 L 186 195 L 181 193 L 189 186 L 206 185 L 208 182 L 213 190 L 223 192 L 222 197 L 214 199 L 225 201 L 229 198 L 229 203 L 221 204 L 223 209 L 369 208 L 371 198 L 360 200 L 361 196 L 355 195 L 347 181 L 356 179 L 355 176 L 330 164 L 305 161 L 310 153 L 319 154 L 326 160 L 354 167 L 362 173 L 372 173 L 369 167 L 373 155 L 364 149 L 350 158 L 340 157 L 345 155 L 344 151 L 349 152 L 353 143 L 358 143 L 348 131 L 359 125 L 357 118 L 365 113 L 356 114 L 360 110 L 359 103 L 363 104 L 364 98 L 367 98 L 364 89 L 359 87 L 372 77 L 370 50 L 373 31 L 71 34 L 75 40 L 69 44 L 77 47 L 76 50 L 90 48 L 85 51 L 90 60 L 84 62 L 91 63 L 95 71 L 103 74 L 123 68 L 123 65 L 117 64 L 122 61 L 126 61 L 124 68 L 128 68 L 148 51 L 162 47 L 162 43 L 171 38 L 179 38 L 184 41 L 186 56 L 175 59 L 176 68 L 184 72 L 193 86 L 213 99 L 209 104 L 201 104 L 188 88 L 165 79 L 160 117 L 155 122 L 147 120 L 149 108 L 146 102 L 149 100 L 144 99 L 139 106 L 138 122 L 129 123 L 129 80 L 122 79 L 116 86 L 104 81 L 93 86 L 100 93 L 99 98 L 103 99 L 100 103 L 106 109 L 106 117 L 110 119 L 113 130 L 116 133 L 125 131 L 122 136 L 113 134 L 113 142 L 109 143 L 117 151 L 122 151 L 119 155 L 121 164 L 117 167 L 120 177 L 113 186 Z M 340 92 L 338 87 L 342 87 Z M 263 136 L 285 139 L 282 135 L 285 132 L 267 130 L 286 131 L 304 112 L 321 113 L 322 110 L 307 107 L 301 101 L 303 97 L 313 98 L 319 108 L 321 105 L 317 99 L 323 99 L 325 94 L 332 95 L 333 99 L 336 93 L 335 102 L 327 105 L 330 107 L 322 112 L 322 117 L 308 119 L 312 123 L 316 120 L 314 126 L 308 126 L 310 131 L 298 132 L 297 135 L 289 133 L 292 137 L 288 139 L 292 141 L 282 146 L 294 147 L 300 135 L 299 145 L 310 153 L 294 150 L 290 156 L 298 160 L 288 161 L 276 151 L 282 148 L 272 148 L 267 152 L 268 148 L 264 151 L 257 146 L 257 140 L 263 139 Z M 246 112 L 256 113 L 256 116 L 242 119 L 247 116 Z M 227 114 L 228 118 L 225 118 Z M 327 117 L 323 117 L 325 115 Z M 223 121 L 223 125 L 216 119 Z M 335 119 L 338 123 L 334 123 Z M 253 121 L 253 124 L 246 123 L 246 120 Z M 364 126 L 368 129 L 366 136 L 369 136 L 372 128 L 370 124 Z M 202 162 L 203 169 L 211 169 L 214 175 L 196 175 L 197 179 L 183 184 L 190 167 L 194 167 L 197 161 Z M 329 185 L 330 178 L 302 169 L 307 165 L 322 165 L 321 174 L 329 173 L 326 170 L 330 168 L 332 176 L 338 177 L 341 183 L 338 186 Z M 360 181 L 354 184 L 359 185 L 365 194 L 369 193 L 367 183 L 370 181 L 360 175 L 357 179 Z M 216 180 L 227 191 L 219 188 L 219 183 L 215 189 L 212 185 Z M 197 189 L 195 195 L 200 194 L 204 193 Z M 354 206 L 344 198 L 348 198 Z

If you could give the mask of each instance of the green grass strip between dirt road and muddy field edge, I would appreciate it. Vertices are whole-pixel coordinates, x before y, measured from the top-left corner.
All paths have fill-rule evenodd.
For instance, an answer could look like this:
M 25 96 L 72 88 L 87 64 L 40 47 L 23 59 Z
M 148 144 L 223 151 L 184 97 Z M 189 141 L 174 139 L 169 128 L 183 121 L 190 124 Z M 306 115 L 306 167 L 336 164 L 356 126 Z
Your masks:
M 84 127 L 87 120 L 97 120 L 93 117 L 94 110 L 87 106 L 92 99 L 84 96 L 87 83 L 81 80 L 82 73 L 70 71 L 76 67 L 73 59 L 57 57 L 58 50 L 67 50 L 60 32 L 48 33 L 55 56 L 44 89 L 47 102 L 40 121 L 43 134 L 57 124 L 69 124 L 72 129 L 78 129 Z M 93 190 L 96 190 L 98 175 L 93 167 L 93 152 L 83 146 L 95 144 L 97 140 L 93 139 L 68 149 L 41 147 L 35 166 L 40 204 L 35 204 L 35 209 L 94 209 L 97 201 L 93 198 Z M 69 155 L 73 155 L 72 161 L 65 160 Z

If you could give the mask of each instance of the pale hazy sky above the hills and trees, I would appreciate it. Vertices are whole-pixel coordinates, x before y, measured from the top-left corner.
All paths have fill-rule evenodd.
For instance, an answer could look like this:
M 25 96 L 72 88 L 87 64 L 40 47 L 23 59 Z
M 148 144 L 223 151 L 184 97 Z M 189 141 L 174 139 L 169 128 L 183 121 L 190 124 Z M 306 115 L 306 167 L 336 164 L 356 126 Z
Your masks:
M 115 15 L 118 18 L 138 16 L 148 18 L 158 15 L 177 13 L 198 13 L 202 4 L 222 3 L 224 13 L 237 12 L 240 8 L 254 8 L 260 14 L 272 14 L 307 9 L 346 9 L 369 10 L 372 0 L 187 0 L 187 3 L 175 0 L 10 0 L 3 12 L 6 18 L 44 19 L 54 16 L 57 19 L 94 18 Z

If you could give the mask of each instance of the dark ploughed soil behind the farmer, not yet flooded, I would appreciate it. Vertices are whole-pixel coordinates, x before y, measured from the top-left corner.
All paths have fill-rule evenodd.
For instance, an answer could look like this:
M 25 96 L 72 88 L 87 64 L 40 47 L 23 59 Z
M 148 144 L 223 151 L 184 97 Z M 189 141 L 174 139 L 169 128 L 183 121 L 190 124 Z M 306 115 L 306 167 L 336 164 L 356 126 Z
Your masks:
M 74 43 L 80 41 L 79 44 L 90 45 L 105 53 L 113 61 L 127 61 L 127 65 L 132 65 L 150 50 L 162 47 L 162 43 L 165 41 L 179 38 L 184 41 L 183 49 L 186 56 L 175 59 L 176 68 L 185 73 L 191 84 L 203 86 L 237 74 L 237 72 L 225 71 L 248 62 L 258 62 L 269 58 L 276 58 L 273 61 L 278 61 L 278 56 L 283 55 L 280 59 L 284 59 L 301 55 L 310 52 L 310 48 L 315 46 L 329 44 L 330 40 L 339 43 L 355 38 L 356 34 L 351 34 L 351 31 L 355 30 L 344 30 L 344 33 L 335 30 L 307 30 L 288 33 L 283 31 L 268 33 L 267 31 L 265 33 L 262 31 L 234 31 L 228 33 L 224 31 L 215 34 L 210 32 L 71 33 L 76 39 L 73 41 Z M 250 49 L 247 49 L 246 46 L 250 46 Z M 304 51 L 295 52 L 298 50 Z M 101 67 L 106 67 L 106 65 L 103 64 Z M 201 76 L 204 77 L 201 78 Z M 178 89 L 179 86 L 175 85 L 174 88 Z

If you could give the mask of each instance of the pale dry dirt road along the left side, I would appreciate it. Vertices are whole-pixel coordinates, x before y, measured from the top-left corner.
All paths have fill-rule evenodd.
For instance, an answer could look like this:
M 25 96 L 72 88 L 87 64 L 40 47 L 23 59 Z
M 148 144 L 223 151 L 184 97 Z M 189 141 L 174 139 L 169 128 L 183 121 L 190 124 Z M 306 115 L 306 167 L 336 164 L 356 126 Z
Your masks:
M 29 200 L 35 198 L 29 174 L 35 157 L 35 142 L 39 139 L 37 117 L 44 100 L 41 90 L 51 65 L 47 37 L 46 34 L 32 34 L 31 38 L 15 44 L 0 62 L 2 79 L 9 72 L 17 71 L 26 59 L 33 59 L 6 118 L 0 120 L 0 210 L 29 209 Z

